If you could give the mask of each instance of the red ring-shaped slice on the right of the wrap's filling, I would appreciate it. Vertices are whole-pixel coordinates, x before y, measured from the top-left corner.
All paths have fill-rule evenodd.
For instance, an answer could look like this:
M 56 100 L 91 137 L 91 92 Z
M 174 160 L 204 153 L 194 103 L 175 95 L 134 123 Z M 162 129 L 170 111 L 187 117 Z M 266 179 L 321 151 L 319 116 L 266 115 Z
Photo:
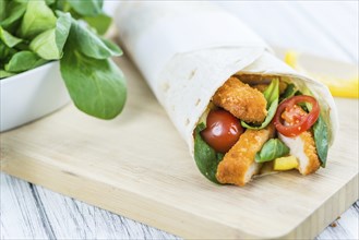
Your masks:
M 312 110 L 309 113 L 301 113 L 300 110 L 298 111 L 298 109 L 296 109 L 299 107 L 297 104 L 300 103 L 309 103 L 312 106 Z M 296 115 L 296 117 L 294 115 Z M 320 107 L 314 97 L 307 95 L 294 96 L 282 101 L 278 106 L 274 116 L 274 125 L 277 131 L 285 136 L 297 136 L 309 130 L 318 120 L 319 115 Z M 283 118 L 287 120 L 290 118 L 295 121 L 284 124 Z

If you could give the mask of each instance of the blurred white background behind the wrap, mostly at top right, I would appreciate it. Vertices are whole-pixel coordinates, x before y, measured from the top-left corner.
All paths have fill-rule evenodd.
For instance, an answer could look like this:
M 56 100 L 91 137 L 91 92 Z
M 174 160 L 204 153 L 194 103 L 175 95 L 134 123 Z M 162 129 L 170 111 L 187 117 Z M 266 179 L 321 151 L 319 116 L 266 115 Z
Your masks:
M 357 0 L 212 2 L 234 13 L 273 47 L 358 63 Z M 115 14 L 118 3 L 106 1 L 105 10 Z

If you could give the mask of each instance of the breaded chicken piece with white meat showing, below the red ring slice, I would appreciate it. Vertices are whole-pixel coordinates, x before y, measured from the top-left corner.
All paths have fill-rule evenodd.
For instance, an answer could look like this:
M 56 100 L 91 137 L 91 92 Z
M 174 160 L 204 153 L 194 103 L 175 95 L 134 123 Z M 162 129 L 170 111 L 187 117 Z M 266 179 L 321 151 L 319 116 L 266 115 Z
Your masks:
M 309 175 L 319 169 L 319 160 L 314 136 L 311 131 L 302 132 L 296 137 L 288 137 L 278 133 L 278 137 L 290 148 L 290 155 L 299 161 L 298 170 L 302 175 Z

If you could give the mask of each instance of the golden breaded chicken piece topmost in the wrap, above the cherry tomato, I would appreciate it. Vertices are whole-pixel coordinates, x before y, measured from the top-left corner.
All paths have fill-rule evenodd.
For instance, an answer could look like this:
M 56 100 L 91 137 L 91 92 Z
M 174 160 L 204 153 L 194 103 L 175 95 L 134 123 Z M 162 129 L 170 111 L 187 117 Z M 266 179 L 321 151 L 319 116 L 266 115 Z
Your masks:
M 246 122 L 261 123 L 267 113 L 263 94 L 236 77 L 217 89 L 213 103 Z

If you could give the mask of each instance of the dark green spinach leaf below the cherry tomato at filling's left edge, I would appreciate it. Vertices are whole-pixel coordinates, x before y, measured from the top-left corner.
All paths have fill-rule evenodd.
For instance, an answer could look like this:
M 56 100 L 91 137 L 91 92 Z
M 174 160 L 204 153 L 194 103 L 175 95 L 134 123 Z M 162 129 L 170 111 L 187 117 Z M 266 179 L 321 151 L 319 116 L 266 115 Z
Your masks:
M 201 136 L 201 131 L 205 129 L 205 124 L 200 123 L 194 130 L 194 160 L 204 177 L 210 181 L 219 184 L 216 172 L 223 154 L 217 154 Z

